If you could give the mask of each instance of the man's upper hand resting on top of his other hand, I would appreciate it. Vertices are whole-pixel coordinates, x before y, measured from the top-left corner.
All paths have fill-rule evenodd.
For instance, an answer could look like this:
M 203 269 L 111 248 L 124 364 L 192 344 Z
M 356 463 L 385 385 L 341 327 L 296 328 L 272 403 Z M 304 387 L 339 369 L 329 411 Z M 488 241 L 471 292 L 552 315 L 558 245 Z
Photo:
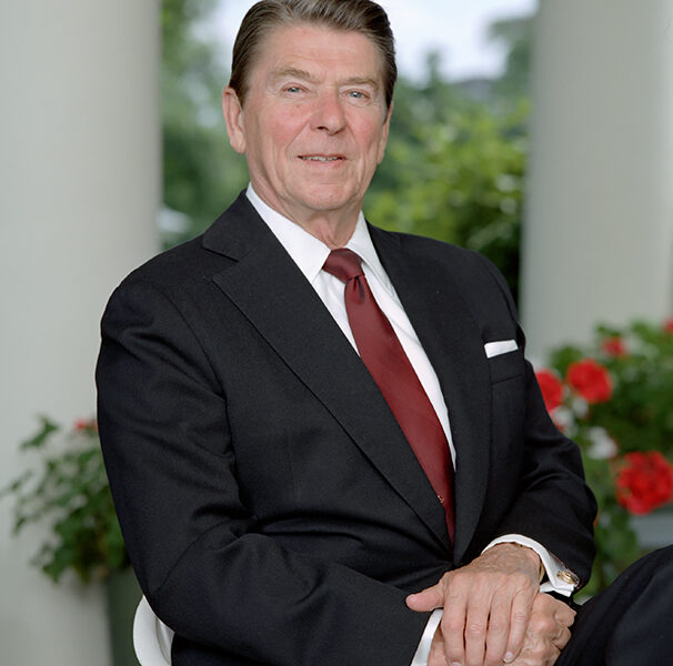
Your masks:
M 412 610 L 444 609 L 429 665 L 513 663 L 524 646 L 539 587 L 538 554 L 499 544 L 468 566 L 444 574 L 436 585 L 410 595 L 406 605 Z M 438 658 L 440 642 L 444 662 Z

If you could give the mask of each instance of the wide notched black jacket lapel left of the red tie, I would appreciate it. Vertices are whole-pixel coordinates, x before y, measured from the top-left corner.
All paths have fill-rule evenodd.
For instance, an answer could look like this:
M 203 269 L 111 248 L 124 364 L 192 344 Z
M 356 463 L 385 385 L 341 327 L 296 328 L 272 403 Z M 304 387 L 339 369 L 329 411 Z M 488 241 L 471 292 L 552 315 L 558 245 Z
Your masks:
M 203 244 L 237 260 L 213 276 L 217 285 L 446 548 L 441 505 L 376 384 L 244 196 L 207 232 Z

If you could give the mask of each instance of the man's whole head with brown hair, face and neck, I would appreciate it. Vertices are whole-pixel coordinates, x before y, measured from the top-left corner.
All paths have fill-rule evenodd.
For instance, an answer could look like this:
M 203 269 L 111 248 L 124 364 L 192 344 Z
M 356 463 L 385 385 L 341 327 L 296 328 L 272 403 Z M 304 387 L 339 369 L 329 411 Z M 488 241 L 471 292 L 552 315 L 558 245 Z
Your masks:
M 330 246 L 350 238 L 383 159 L 392 49 L 369 0 L 264 0 L 237 38 L 222 99 L 231 145 L 257 193 Z

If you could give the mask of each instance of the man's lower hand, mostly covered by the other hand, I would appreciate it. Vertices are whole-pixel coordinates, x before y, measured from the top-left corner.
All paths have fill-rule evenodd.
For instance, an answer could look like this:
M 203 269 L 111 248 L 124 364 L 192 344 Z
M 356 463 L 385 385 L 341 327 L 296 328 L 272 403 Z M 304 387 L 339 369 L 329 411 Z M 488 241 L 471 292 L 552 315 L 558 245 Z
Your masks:
M 575 612 L 566 604 L 539 594 L 533 602 L 523 649 L 511 666 L 552 666 L 570 640 L 574 619 Z

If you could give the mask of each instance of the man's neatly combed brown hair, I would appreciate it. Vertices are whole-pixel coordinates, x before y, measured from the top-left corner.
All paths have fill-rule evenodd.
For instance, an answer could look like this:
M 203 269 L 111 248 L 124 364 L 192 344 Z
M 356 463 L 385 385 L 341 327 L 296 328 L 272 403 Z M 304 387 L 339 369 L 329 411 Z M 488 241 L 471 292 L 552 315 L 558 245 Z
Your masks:
M 265 37 L 277 28 L 297 23 L 360 32 L 370 39 L 381 54 L 385 105 L 390 108 L 398 79 L 394 38 L 385 11 L 371 0 L 261 0 L 253 4 L 233 44 L 229 80 L 242 103 Z

